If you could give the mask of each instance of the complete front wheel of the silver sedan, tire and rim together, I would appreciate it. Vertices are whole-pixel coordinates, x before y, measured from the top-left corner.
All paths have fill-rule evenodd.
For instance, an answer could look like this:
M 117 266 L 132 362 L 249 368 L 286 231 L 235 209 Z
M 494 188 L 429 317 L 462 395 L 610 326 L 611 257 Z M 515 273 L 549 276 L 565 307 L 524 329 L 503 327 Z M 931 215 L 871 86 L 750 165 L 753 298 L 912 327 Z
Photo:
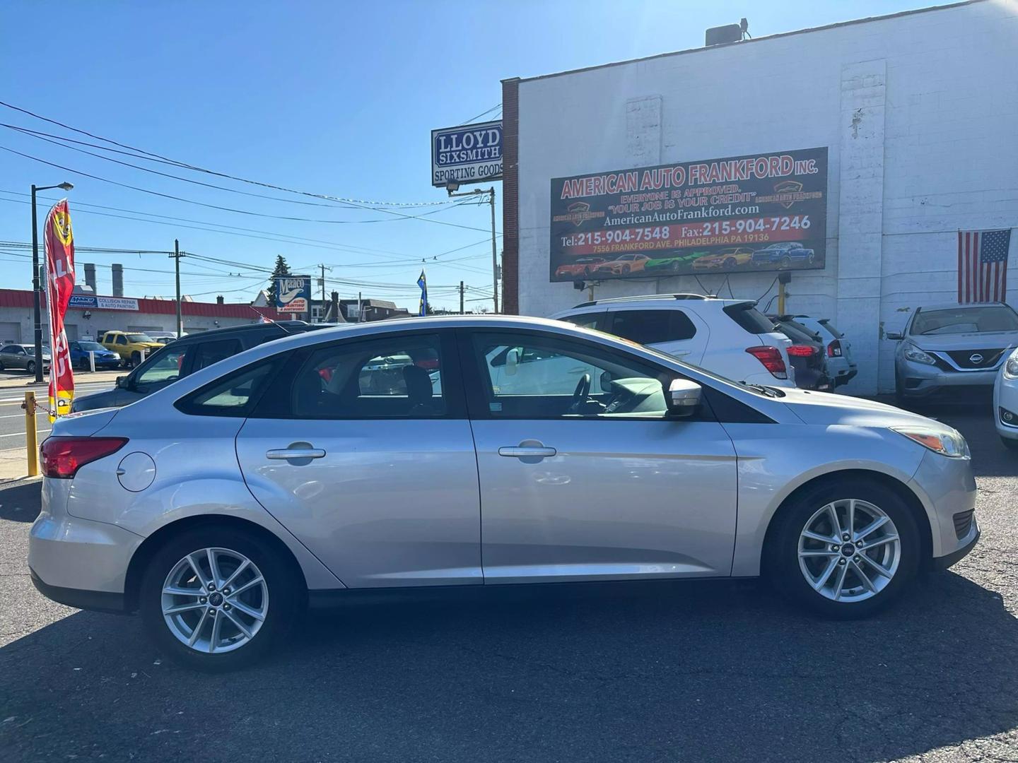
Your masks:
M 900 596 L 919 569 L 911 510 L 879 483 L 839 480 L 784 506 L 769 534 L 770 577 L 819 614 L 863 618 Z

